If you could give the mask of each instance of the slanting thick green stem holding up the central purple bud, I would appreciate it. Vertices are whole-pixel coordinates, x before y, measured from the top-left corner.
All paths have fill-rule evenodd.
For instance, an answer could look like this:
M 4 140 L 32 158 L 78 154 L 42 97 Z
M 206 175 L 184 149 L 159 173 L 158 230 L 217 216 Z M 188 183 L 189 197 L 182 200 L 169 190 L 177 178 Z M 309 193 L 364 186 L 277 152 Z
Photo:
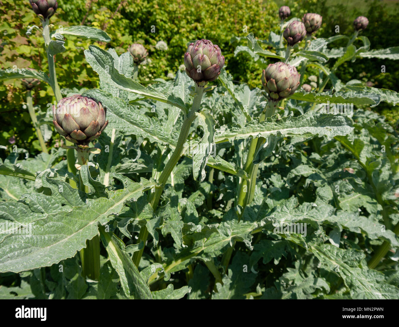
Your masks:
M 196 112 L 198 112 L 199 109 L 201 108 L 203 89 L 204 89 L 203 85 L 196 84 L 196 87 L 195 87 L 196 95 L 194 97 L 192 109 L 188 113 L 188 115 L 186 115 L 186 117 L 184 118 L 176 148 L 174 149 L 172 156 L 170 157 L 168 163 L 166 163 L 165 168 L 162 171 L 162 174 L 158 179 L 158 183 L 160 184 L 160 186 L 156 187 L 155 190 L 152 189 L 150 192 L 150 195 L 148 196 L 148 202 L 150 202 L 154 211 L 156 211 L 156 209 L 158 208 L 159 200 L 161 198 L 161 195 L 162 195 L 162 192 L 166 185 L 166 182 L 168 181 L 168 178 L 173 171 L 173 168 L 178 163 L 180 157 L 182 157 L 184 145 L 187 141 L 187 137 L 188 137 L 188 133 L 190 131 L 191 124 L 194 121 L 194 119 L 196 119 Z M 137 240 L 136 244 L 139 244 L 140 242 L 144 242 L 144 246 L 145 246 L 147 237 L 148 237 L 148 230 L 147 230 L 146 226 L 143 226 L 140 229 L 140 233 L 138 234 L 138 240 Z M 144 252 L 144 248 L 142 248 L 139 251 L 134 252 L 133 262 L 137 267 L 140 264 L 140 260 L 141 260 L 141 256 L 142 256 L 143 252 Z

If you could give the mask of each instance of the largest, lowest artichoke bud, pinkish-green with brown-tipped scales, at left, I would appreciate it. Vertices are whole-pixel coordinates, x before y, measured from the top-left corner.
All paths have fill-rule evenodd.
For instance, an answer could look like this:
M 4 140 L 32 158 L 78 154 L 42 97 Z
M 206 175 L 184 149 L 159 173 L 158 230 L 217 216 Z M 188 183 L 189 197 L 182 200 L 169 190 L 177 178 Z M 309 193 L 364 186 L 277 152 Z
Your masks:
M 53 124 L 65 139 L 85 149 L 107 127 L 106 110 L 95 99 L 73 95 L 53 106 Z

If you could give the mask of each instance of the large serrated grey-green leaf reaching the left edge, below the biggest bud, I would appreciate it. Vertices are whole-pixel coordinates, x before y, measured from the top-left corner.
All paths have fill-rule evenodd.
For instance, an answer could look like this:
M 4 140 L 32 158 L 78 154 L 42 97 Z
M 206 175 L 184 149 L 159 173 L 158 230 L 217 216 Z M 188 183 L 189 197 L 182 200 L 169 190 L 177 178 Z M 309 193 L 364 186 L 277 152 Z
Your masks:
M 0 249 L 0 272 L 20 272 L 50 266 L 60 260 L 75 256 L 86 246 L 86 240 L 97 235 L 97 222 L 105 224 L 112 214 L 118 214 L 126 201 L 136 200 L 142 192 L 155 185 L 142 179 L 140 183 L 129 182 L 122 176 L 124 188 L 107 191 L 108 198 L 87 200 L 87 206 L 73 208 L 71 212 L 59 212 L 38 219 L 20 212 L 15 220 L 25 219 L 32 223 L 32 236 L 8 234 Z M 28 218 L 28 219 L 27 219 Z M 0 218 L 0 222 L 5 222 Z

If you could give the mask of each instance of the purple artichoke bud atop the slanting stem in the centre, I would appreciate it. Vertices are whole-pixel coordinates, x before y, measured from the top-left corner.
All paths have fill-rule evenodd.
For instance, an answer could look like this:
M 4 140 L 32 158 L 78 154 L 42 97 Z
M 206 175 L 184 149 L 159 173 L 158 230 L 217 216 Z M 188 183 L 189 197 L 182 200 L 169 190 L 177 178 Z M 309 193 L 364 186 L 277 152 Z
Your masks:
M 184 65 L 188 77 L 196 83 L 210 82 L 220 75 L 224 57 L 217 45 L 202 39 L 188 46 L 184 54 Z

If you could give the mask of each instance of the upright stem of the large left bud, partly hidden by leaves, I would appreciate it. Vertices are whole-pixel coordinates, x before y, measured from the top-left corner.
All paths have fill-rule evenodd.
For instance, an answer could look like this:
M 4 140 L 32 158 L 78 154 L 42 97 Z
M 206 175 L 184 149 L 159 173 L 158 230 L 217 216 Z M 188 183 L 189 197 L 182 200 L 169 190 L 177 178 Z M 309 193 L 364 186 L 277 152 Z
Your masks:
M 77 148 L 77 161 L 81 166 L 87 164 L 89 160 L 89 150 Z M 85 193 L 89 188 L 83 184 L 81 174 L 79 174 L 79 189 Z M 86 240 L 86 248 L 80 252 L 83 276 L 89 279 L 98 280 L 100 276 L 100 239 L 96 235 L 91 240 Z

